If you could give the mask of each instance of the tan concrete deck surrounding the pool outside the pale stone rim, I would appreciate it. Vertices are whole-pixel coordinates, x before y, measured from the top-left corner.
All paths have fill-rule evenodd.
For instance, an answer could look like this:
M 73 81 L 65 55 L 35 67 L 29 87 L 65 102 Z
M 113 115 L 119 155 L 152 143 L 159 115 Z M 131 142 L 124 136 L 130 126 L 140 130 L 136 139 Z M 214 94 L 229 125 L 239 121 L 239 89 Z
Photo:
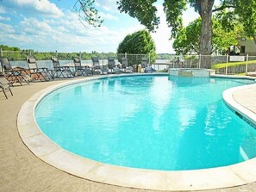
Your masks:
M 57 80 L 17 86 L 13 89 L 14 96 L 9 96 L 8 100 L 5 100 L 3 93 L 0 94 L 0 108 L 2 109 L 0 117 L 0 191 L 147 191 L 96 183 L 74 177 L 41 161 L 24 145 L 16 126 L 16 118 L 22 104 L 35 93 L 66 81 Z M 235 91 L 234 100 L 256 113 L 255 90 L 256 85 L 246 90 Z M 250 183 L 240 187 L 208 191 L 255 191 L 255 189 L 256 183 Z

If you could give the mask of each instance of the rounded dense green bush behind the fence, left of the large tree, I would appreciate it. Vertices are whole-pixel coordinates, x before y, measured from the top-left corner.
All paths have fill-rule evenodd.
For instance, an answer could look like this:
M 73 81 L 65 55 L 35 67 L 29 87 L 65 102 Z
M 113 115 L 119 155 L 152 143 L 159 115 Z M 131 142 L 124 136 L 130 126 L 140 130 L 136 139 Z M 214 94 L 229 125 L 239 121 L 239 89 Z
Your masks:
M 117 53 L 148 54 L 151 62 L 156 59 L 154 41 L 147 30 L 140 30 L 128 34 L 117 48 Z

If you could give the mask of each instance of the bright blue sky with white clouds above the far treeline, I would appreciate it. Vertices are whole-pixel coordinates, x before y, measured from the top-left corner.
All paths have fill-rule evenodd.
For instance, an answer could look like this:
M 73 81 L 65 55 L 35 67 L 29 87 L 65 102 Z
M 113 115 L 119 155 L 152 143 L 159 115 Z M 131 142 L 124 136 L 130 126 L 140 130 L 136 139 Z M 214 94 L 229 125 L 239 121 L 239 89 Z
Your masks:
M 34 49 L 41 52 L 116 53 L 117 46 L 127 34 L 145 27 L 126 14 L 121 14 L 116 0 L 96 0 L 96 7 L 104 22 L 101 28 L 84 28 L 78 15 L 72 11 L 76 0 L 2 0 L 0 1 L 0 44 Z M 159 10 L 160 25 L 153 40 L 157 53 L 174 53 L 169 40 L 171 28 L 167 28 L 165 14 Z M 184 24 L 197 17 L 188 10 Z

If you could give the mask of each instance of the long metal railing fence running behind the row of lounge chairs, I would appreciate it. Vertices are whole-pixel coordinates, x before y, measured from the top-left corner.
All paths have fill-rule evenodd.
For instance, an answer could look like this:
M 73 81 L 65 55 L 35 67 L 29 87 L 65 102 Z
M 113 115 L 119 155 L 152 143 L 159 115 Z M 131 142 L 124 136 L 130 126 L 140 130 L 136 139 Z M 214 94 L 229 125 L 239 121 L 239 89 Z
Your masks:
M 128 58 L 128 65 L 140 65 L 142 58 L 147 58 L 157 71 L 167 71 L 169 68 L 203 68 L 209 63 L 217 74 L 247 74 L 256 70 L 256 56 L 205 56 L 205 55 L 172 55 L 165 54 L 165 57 L 157 55 L 156 60 L 152 60 L 150 54 L 128 54 L 128 53 L 39 53 L 32 51 L 2 51 L 2 57 L 8 57 L 12 66 L 27 68 L 26 59 L 34 56 L 39 67 L 53 69 L 51 57 L 56 56 L 60 65 L 73 66 L 73 58 L 79 58 L 82 65 L 92 65 L 91 57 L 98 57 L 100 65 L 108 64 L 108 57 L 116 58 L 116 65 L 121 64 L 122 57 Z M 0 66 L 1 68 L 1 66 Z M 0 69 L 2 71 L 2 69 Z

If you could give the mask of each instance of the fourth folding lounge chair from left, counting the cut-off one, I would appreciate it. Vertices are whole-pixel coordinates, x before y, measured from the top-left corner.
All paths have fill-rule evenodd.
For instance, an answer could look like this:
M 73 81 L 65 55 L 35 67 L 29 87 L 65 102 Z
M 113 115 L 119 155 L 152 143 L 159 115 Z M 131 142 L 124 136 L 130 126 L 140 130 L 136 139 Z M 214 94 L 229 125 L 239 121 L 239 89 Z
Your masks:
M 72 71 L 70 70 L 69 66 L 60 66 L 59 65 L 59 59 L 56 57 L 51 58 L 53 62 L 53 77 L 74 77 L 72 74 Z

